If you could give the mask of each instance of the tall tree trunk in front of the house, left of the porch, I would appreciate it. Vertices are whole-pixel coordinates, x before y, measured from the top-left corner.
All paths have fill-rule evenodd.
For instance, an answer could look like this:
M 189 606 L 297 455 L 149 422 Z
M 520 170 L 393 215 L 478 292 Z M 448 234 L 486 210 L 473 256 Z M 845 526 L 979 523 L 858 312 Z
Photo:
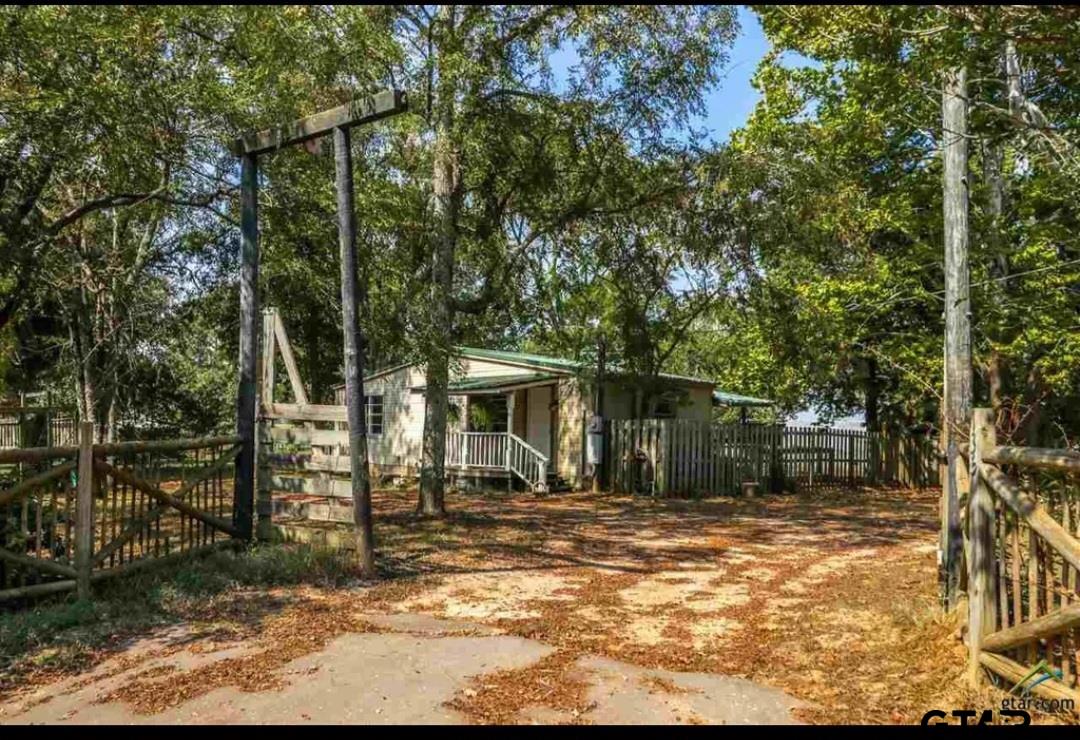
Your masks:
M 438 23 L 444 44 L 453 46 L 455 9 L 442 5 Z M 435 152 L 432 173 L 436 228 L 431 280 L 431 334 L 427 344 L 427 390 L 423 408 L 423 448 L 420 462 L 420 500 L 417 511 L 442 516 L 445 509 L 446 417 L 454 336 L 454 264 L 458 242 L 460 174 L 454 137 L 456 83 L 447 66 L 440 70 L 435 95 Z

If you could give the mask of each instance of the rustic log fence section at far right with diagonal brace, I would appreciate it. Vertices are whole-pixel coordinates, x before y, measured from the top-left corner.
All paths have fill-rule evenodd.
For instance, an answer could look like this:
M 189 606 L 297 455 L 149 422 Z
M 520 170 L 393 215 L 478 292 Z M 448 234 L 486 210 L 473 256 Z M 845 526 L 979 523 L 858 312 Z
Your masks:
M 969 677 L 1080 707 L 1080 453 L 1000 446 L 975 409 L 968 506 Z

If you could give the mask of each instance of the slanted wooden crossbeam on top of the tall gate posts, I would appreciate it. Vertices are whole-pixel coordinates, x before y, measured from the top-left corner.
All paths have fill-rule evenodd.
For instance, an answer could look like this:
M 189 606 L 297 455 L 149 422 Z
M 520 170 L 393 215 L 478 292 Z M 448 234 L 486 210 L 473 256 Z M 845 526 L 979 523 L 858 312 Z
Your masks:
M 237 157 L 261 154 L 291 144 L 300 144 L 323 136 L 335 129 L 370 123 L 381 118 L 403 113 L 406 110 L 408 110 L 408 102 L 405 93 L 401 90 L 387 90 L 374 95 L 364 95 L 337 108 L 323 110 L 285 125 L 244 134 L 233 144 L 232 153 Z

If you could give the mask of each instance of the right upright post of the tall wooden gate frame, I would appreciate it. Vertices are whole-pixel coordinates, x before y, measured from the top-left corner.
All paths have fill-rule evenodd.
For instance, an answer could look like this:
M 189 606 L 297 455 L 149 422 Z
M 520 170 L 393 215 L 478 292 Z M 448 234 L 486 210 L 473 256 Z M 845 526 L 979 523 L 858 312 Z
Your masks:
M 341 327 L 345 334 L 345 401 L 349 417 L 349 470 L 356 554 L 365 577 L 375 576 L 372 532 L 372 482 L 367 469 L 367 426 L 364 418 L 364 345 L 360 328 L 356 280 L 356 219 L 353 213 L 352 148 L 349 130 L 334 129 L 334 163 L 341 247 Z

